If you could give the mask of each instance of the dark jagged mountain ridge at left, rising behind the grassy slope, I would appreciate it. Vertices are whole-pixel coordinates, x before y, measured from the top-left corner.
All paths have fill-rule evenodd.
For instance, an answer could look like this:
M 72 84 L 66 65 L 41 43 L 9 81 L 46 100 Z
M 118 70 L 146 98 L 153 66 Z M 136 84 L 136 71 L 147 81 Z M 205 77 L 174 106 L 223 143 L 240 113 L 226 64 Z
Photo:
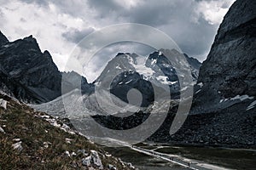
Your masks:
M 32 37 L 9 42 L 0 34 L 0 88 L 26 103 L 44 103 L 61 95 L 61 79 L 67 91 L 76 88 L 71 77 L 74 72 L 58 71 L 48 51 L 41 52 L 37 40 Z M 71 76 L 67 76 L 71 74 Z M 90 86 L 82 78 L 84 89 Z

